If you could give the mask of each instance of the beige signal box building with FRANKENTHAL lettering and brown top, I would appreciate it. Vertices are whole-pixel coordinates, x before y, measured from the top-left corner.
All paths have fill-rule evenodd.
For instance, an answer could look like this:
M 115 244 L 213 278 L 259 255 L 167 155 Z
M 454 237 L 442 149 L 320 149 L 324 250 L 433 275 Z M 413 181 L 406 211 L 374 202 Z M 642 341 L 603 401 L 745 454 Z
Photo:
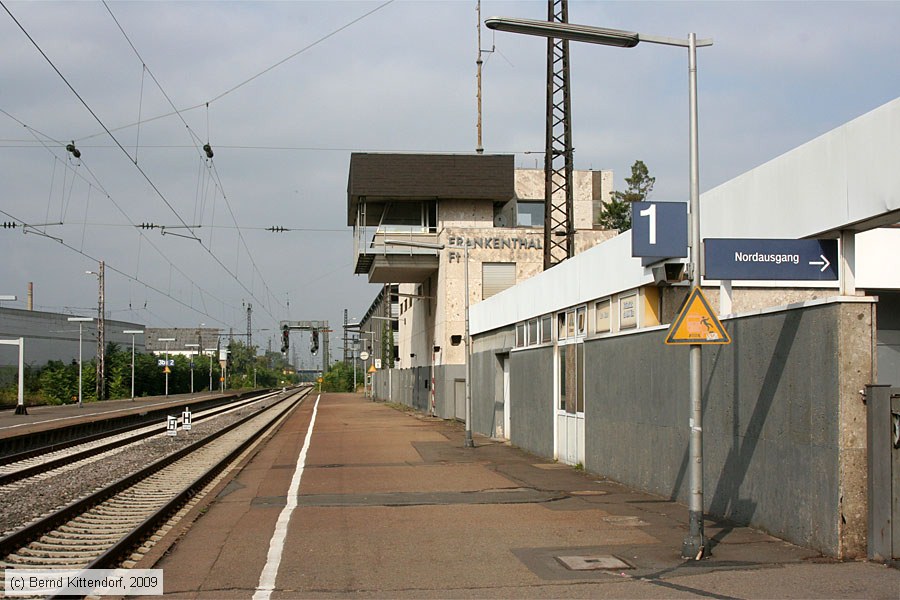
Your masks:
M 576 171 L 573 189 L 580 252 L 614 234 L 594 228 L 612 172 Z M 543 170 L 513 155 L 354 153 L 347 223 L 355 273 L 394 286 L 361 322 L 382 364 L 376 395 L 462 418 L 467 293 L 475 305 L 543 270 Z

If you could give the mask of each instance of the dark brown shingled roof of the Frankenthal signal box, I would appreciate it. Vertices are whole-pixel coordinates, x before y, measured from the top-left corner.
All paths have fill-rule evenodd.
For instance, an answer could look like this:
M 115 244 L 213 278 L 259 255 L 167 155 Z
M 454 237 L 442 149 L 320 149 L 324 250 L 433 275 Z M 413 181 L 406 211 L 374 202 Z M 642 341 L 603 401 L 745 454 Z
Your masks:
M 514 161 L 512 154 L 353 153 L 347 181 L 347 224 L 355 223 L 360 198 L 369 202 L 506 202 L 515 195 Z

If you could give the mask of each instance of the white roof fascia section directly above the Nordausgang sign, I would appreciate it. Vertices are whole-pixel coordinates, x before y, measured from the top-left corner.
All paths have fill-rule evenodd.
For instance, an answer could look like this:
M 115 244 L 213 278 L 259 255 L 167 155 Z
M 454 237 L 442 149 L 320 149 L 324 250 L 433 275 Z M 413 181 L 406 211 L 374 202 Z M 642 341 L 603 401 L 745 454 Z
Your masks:
M 898 155 L 900 98 L 702 194 L 703 237 L 812 237 L 900 211 Z

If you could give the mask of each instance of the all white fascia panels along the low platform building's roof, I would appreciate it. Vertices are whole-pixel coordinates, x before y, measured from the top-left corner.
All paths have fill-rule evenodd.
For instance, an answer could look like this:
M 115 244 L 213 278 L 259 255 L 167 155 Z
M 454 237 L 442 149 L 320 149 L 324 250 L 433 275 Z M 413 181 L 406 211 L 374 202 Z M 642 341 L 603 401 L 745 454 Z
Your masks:
M 900 98 L 701 194 L 701 235 L 803 238 L 900 211 L 898 154 Z M 898 257 L 900 230 L 859 234 L 857 286 L 900 288 Z M 652 282 L 627 231 L 473 305 L 469 328 L 491 331 Z

